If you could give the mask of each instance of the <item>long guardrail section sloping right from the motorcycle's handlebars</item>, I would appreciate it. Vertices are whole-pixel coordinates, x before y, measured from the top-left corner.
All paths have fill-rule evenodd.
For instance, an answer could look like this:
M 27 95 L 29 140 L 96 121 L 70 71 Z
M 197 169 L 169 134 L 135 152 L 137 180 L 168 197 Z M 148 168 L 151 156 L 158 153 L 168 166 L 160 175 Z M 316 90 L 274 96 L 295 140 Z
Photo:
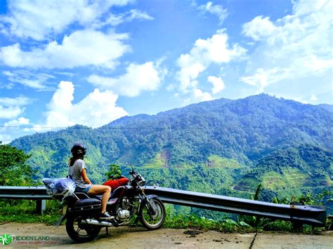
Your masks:
M 311 224 L 315 227 L 325 227 L 326 225 L 326 206 L 266 203 L 244 198 L 150 186 L 145 187 L 145 193 L 156 194 L 164 203 L 204 208 L 226 213 L 289 220 L 295 223 Z

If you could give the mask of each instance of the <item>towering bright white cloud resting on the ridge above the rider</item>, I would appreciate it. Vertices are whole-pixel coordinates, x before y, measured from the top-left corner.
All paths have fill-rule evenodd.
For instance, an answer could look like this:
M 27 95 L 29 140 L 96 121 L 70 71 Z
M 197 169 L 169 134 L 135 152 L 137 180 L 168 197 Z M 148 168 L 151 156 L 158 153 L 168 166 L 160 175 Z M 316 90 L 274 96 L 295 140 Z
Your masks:
M 70 81 L 61 81 L 51 102 L 48 103 L 45 122 L 38 127 L 67 127 L 81 124 L 92 128 L 103 126 L 126 116 L 122 107 L 117 107 L 118 96 L 110 90 L 95 89 L 83 100 L 73 104 L 74 86 Z

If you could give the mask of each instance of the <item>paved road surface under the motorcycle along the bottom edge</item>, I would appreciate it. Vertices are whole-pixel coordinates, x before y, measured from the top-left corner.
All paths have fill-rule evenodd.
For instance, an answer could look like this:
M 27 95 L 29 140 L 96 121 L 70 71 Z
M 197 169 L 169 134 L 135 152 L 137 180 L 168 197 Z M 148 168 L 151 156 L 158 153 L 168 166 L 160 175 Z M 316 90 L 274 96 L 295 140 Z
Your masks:
M 320 235 L 265 233 L 223 234 L 203 231 L 186 234 L 185 229 L 147 231 L 141 227 L 118 227 L 100 231 L 94 241 L 75 244 L 65 227 L 45 224 L 0 224 L 0 236 L 10 234 L 12 241 L 0 248 L 333 248 L 333 231 Z

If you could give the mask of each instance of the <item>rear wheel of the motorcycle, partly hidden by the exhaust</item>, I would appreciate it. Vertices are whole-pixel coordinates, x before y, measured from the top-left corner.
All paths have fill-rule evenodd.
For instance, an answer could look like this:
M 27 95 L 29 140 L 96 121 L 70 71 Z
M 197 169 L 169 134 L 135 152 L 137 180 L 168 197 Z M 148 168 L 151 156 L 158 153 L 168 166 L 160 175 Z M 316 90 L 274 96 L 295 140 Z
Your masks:
M 84 243 L 92 241 L 100 232 L 100 227 L 89 224 L 81 224 L 81 218 L 67 218 L 66 231 L 73 241 Z

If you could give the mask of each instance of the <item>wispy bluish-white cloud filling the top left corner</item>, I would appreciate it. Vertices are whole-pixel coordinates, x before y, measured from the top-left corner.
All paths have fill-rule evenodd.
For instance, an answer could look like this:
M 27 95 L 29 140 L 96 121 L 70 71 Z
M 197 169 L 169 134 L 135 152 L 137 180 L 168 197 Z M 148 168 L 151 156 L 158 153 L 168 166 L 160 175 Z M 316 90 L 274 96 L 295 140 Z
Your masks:
M 1 32 L 41 41 L 48 36 L 60 34 L 72 23 L 86 27 L 111 6 L 124 6 L 129 2 L 130 0 L 8 1 L 9 13 L 0 18 L 3 23 Z

